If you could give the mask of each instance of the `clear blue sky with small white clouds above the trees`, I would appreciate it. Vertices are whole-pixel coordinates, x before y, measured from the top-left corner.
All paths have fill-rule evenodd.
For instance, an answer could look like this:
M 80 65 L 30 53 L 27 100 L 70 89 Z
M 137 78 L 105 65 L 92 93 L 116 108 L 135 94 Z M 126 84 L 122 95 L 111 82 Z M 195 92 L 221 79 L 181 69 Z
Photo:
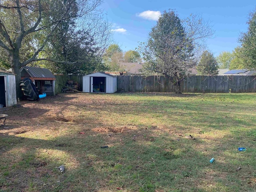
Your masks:
M 102 4 L 113 24 L 114 41 L 123 51 L 134 50 L 138 42 L 146 42 L 158 15 L 173 9 L 181 19 L 198 14 L 211 22 L 215 37 L 207 40 L 207 46 L 215 56 L 239 45 L 238 38 L 248 27 L 248 14 L 255 7 L 255 0 L 105 0 Z

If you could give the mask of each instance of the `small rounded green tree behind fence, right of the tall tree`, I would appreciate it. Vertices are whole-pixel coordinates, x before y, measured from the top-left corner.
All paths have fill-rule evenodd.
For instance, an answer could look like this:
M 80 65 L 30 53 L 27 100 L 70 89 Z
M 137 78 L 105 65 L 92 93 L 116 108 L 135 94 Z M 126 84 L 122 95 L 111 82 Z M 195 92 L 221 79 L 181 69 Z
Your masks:
M 196 67 L 200 75 L 217 75 L 218 63 L 214 55 L 208 50 L 204 51 Z

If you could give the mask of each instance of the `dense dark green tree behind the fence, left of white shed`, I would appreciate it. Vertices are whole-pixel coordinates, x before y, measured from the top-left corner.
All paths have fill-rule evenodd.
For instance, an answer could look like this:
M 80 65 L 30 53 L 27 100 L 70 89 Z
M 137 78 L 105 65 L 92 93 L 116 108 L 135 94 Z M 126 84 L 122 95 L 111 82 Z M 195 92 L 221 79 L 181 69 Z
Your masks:
M 50 40 L 50 46 L 46 47 L 47 54 L 54 60 L 67 62 L 42 61 L 33 65 L 44 66 L 57 74 L 89 74 L 106 70 L 98 55 L 99 48 L 90 34 L 85 34 L 81 30 L 75 32 L 72 28 L 65 33 L 62 30 L 57 32 Z

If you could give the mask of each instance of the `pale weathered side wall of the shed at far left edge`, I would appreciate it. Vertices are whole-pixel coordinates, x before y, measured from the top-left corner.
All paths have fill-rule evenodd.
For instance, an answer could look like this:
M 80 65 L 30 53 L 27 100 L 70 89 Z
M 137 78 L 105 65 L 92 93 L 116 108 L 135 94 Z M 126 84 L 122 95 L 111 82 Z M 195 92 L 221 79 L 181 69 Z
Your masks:
M 7 93 L 7 107 L 11 107 L 17 104 L 16 99 L 16 82 L 15 75 L 7 75 L 6 76 L 6 93 Z

